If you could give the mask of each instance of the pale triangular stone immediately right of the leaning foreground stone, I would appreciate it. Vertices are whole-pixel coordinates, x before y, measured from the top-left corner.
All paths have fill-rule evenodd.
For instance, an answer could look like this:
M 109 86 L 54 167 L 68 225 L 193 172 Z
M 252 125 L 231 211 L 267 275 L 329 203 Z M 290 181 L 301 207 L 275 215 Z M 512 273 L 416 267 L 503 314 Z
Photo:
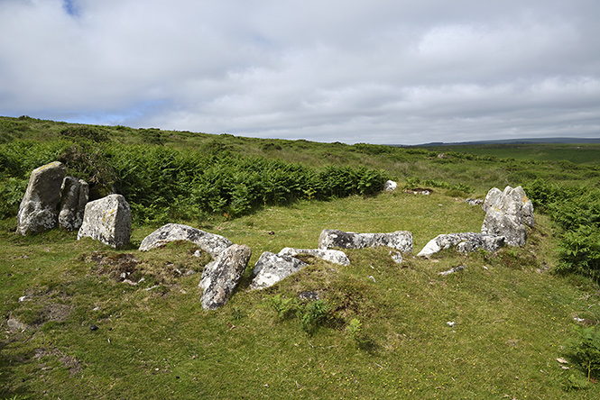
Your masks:
M 250 289 L 263 289 L 273 286 L 284 277 L 289 277 L 307 265 L 300 259 L 265 251 L 254 265 L 254 279 L 250 284 Z

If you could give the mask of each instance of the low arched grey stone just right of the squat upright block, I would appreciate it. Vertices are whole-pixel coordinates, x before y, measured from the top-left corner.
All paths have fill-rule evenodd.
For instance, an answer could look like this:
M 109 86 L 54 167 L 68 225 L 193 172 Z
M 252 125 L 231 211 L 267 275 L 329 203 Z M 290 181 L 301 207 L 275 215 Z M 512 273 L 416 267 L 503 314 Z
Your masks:
M 213 259 L 233 243 L 215 233 L 200 231 L 180 223 L 167 223 L 146 236 L 140 245 L 140 251 L 161 247 L 170 241 L 191 241 L 200 249 L 205 250 Z

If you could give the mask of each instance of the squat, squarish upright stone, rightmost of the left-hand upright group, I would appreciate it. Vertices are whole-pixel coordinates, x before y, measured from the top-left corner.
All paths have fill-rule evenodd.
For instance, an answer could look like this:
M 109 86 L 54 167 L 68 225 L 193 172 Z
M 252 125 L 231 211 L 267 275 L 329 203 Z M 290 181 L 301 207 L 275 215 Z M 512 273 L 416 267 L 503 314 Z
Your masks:
M 77 239 L 92 238 L 119 248 L 131 237 L 131 209 L 123 195 L 107 195 L 89 202 Z

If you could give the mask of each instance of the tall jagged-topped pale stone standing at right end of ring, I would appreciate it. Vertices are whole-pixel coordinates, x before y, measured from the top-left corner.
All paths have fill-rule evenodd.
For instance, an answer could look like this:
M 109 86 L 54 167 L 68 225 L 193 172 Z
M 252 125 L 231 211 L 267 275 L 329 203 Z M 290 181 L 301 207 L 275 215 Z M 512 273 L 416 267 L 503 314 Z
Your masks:
M 524 246 L 527 240 L 525 224 L 534 226 L 533 205 L 522 186 L 506 186 L 503 192 L 493 188 L 485 196 L 485 211 L 481 232 L 504 236 L 511 246 Z

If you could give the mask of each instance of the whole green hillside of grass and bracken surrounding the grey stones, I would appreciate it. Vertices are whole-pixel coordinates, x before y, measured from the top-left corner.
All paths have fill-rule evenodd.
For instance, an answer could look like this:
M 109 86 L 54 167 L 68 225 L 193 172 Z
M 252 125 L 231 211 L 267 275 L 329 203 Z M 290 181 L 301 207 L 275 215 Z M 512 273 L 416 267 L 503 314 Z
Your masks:
M 600 177 L 595 165 L 31 118 L 0 118 L 0 138 L 0 307 L 5 316 L 0 398 L 600 395 L 597 375 L 588 379 L 573 350 L 573 343 L 582 347 L 581 330 L 600 322 L 600 290 L 594 277 L 554 273 L 563 262 L 559 246 L 568 232 L 563 220 L 572 214 L 559 214 L 551 201 L 582 188 L 594 195 Z M 97 195 L 107 186 L 129 191 L 136 216 L 126 249 L 77 241 L 75 232 L 14 233 L 15 209 L 29 172 L 60 158 L 69 172 L 90 181 L 96 177 Z M 152 164 L 155 159 L 161 163 Z M 226 168 L 240 167 L 231 172 L 233 180 L 219 181 L 236 182 L 231 187 L 238 190 L 250 190 L 242 167 L 253 165 L 265 166 L 263 175 L 272 171 L 274 183 L 280 182 L 276 171 L 295 174 L 300 186 L 294 195 L 250 202 L 236 215 L 223 210 L 231 211 L 235 198 L 245 197 L 227 197 L 226 191 L 219 198 L 229 201 L 224 205 L 229 208 L 192 210 L 185 201 L 188 194 L 199 196 L 196 186 L 206 182 L 207 159 L 220 166 L 222 175 L 228 174 Z M 134 173 L 125 174 L 125 164 Z M 323 192 L 318 200 L 318 179 L 339 174 L 364 183 L 389 177 L 400 186 L 427 186 L 433 193 L 361 194 L 365 186 L 353 186 L 333 195 Z M 171 180 L 172 186 L 162 183 Z M 144 190 L 134 191 L 131 182 Z M 307 258 L 309 267 L 300 273 L 263 291 L 248 290 L 263 251 L 316 248 L 322 229 L 411 231 L 413 254 L 439 233 L 477 232 L 484 213 L 467 205 L 465 197 L 483 197 L 489 188 L 505 185 L 525 186 L 536 202 L 536 227 L 524 248 L 468 256 L 447 250 L 430 260 L 405 254 L 402 265 L 392 262 L 389 250 L 350 250 L 349 267 Z M 266 180 L 262 190 L 270 190 Z M 201 198 L 189 203 L 198 208 Z M 584 211 L 589 220 L 595 218 L 594 207 Z M 584 211 L 577 214 L 587 215 Z M 252 248 L 245 277 L 225 307 L 208 312 L 199 305 L 199 273 L 209 258 L 193 256 L 194 246 L 176 242 L 137 250 L 167 221 Z M 440 275 L 460 265 L 466 268 Z M 124 273 L 143 281 L 128 285 Z M 307 306 L 299 297 L 306 291 L 317 292 L 326 305 L 324 318 L 314 317 L 311 330 L 294 314 Z M 26 327 L 14 327 L 14 321 Z M 568 360 L 568 369 L 558 358 Z

